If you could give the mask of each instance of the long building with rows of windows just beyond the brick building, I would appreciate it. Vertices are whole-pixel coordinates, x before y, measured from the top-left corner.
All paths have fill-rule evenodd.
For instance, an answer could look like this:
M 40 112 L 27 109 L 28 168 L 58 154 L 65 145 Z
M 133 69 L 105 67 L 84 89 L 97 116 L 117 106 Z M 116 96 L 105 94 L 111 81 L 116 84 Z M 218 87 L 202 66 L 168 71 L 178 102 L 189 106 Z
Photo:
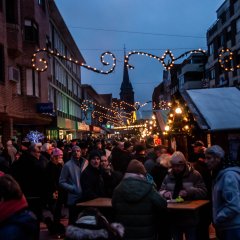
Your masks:
M 66 58 L 84 63 L 84 59 L 73 40 L 53 0 L 49 0 L 50 48 Z M 79 64 L 58 57 L 50 59 L 48 101 L 53 103 L 54 121 L 47 128 L 49 138 L 71 140 L 80 136 L 81 129 L 81 68 Z

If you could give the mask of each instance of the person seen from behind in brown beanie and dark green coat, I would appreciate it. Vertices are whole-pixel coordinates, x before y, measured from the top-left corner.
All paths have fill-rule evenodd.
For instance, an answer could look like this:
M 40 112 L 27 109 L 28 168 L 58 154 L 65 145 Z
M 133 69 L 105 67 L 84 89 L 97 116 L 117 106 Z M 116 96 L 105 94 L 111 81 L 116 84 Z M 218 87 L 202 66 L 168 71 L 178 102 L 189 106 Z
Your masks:
M 146 173 L 140 161 L 131 160 L 123 180 L 113 192 L 116 221 L 124 225 L 126 240 L 155 239 L 156 216 L 161 216 L 161 210 L 167 207 L 166 200 L 147 181 Z

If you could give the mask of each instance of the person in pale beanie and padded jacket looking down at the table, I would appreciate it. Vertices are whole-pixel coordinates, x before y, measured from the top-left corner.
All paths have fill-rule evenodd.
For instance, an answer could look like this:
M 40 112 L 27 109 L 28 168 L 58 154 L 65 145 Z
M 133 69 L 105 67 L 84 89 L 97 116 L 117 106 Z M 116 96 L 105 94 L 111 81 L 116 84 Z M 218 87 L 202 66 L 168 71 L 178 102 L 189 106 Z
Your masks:
M 192 168 L 182 152 L 176 151 L 170 159 L 171 169 L 164 178 L 160 194 L 168 200 L 178 197 L 184 200 L 198 200 L 207 198 L 207 189 L 200 173 Z M 195 229 L 179 226 L 181 223 L 172 223 L 174 239 L 197 239 Z

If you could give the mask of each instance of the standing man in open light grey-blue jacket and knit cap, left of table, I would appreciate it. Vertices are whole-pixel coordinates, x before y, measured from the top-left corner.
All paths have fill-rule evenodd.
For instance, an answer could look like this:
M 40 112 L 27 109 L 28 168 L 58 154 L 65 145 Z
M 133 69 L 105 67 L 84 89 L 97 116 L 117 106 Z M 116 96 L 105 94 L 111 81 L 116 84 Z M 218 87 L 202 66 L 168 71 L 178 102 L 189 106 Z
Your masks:
M 87 165 L 87 159 L 81 157 L 80 147 L 73 146 L 72 157 L 63 165 L 59 178 L 59 186 L 67 192 L 69 224 L 74 223 L 78 216 L 76 203 L 82 200 L 80 176 Z

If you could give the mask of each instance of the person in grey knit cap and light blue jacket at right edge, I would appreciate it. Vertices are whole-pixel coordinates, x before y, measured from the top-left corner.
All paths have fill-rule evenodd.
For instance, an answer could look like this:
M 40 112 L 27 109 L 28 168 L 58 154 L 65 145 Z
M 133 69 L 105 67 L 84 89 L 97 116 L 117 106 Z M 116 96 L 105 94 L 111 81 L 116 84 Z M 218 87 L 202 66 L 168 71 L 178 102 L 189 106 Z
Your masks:
M 224 150 L 206 149 L 206 164 L 212 171 L 213 225 L 219 240 L 240 239 L 240 162 L 230 161 Z

